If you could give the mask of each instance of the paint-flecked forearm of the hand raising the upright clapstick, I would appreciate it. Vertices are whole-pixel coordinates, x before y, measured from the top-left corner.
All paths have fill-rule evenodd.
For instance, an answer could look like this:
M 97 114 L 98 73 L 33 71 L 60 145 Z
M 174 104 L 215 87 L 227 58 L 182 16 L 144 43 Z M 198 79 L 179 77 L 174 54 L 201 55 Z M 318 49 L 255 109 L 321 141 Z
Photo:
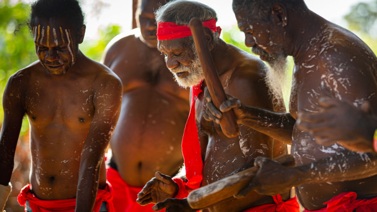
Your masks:
M 245 117 L 241 118 L 240 122 L 286 144 L 291 144 L 293 126 L 296 120 L 290 113 L 277 113 L 246 106 Z

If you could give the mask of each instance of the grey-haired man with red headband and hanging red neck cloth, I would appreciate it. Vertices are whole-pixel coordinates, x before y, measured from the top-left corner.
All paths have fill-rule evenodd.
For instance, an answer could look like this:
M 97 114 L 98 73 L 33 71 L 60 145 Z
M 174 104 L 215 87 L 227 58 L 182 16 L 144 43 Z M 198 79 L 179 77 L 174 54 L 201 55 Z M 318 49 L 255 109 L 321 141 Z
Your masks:
M 216 26 L 216 12 L 199 2 L 177 0 L 162 6 L 155 14 L 158 49 L 165 55 L 166 66 L 180 86 L 192 86 L 191 110 L 182 140 L 186 173 L 181 178 L 156 173 L 156 178 L 138 194 L 137 201 L 141 205 L 157 203 L 154 210 L 191 212 L 196 210 L 189 207 L 186 199 L 182 200 L 191 190 L 251 167 L 257 156 L 272 158 L 284 154 L 285 145 L 275 143 L 275 146 L 273 138 L 245 126 L 240 126 L 238 137 L 227 138 L 219 124 L 208 121 L 209 117 L 205 116 L 205 111 L 212 109 L 206 106 L 203 92 L 207 86 L 187 26 L 193 17 L 203 22 L 208 48 L 225 91 L 251 105 L 274 109 L 264 81 L 266 66 L 258 58 L 219 38 L 221 29 Z M 274 146 L 276 151 L 273 151 Z M 208 209 L 211 212 L 262 212 L 277 208 L 299 211 L 296 198 L 289 199 L 289 192 L 274 197 L 253 193 L 243 200 L 231 198 Z

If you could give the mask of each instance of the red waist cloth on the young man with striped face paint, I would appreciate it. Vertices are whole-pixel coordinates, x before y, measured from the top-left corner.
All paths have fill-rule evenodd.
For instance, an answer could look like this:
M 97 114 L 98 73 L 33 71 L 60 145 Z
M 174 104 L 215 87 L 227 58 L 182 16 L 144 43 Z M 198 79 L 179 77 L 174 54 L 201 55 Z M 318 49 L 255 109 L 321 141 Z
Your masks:
M 40 200 L 32 193 L 30 184 L 21 189 L 17 200 L 21 206 L 24 206 L 26 201 L 29 200 L 29 206 L 33 212 L 75 212 L 76 206 L 76 198 L 66 200 Z M 112 200 L 113 188 L 111 184 L 106 181 L 106 187 L 104 189 L 98 189 L 93 212 L 100 210 L 102 202 L 107 203 L 106 208 L 108 212 L 115 212 Z

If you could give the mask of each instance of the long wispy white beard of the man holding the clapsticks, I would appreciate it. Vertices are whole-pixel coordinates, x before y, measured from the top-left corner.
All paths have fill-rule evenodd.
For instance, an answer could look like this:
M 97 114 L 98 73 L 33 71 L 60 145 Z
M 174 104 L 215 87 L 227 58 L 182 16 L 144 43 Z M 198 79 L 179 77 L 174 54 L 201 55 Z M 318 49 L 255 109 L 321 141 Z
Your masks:
M 270 69 L 266 71 L 265 80 L 270 94 L 273 96 L 274 105 L 283 105 L 283 89 L 288 84 L 287 77 L 287 57 L 284 55 L 274 55 L 273 60 L 267 61 Z

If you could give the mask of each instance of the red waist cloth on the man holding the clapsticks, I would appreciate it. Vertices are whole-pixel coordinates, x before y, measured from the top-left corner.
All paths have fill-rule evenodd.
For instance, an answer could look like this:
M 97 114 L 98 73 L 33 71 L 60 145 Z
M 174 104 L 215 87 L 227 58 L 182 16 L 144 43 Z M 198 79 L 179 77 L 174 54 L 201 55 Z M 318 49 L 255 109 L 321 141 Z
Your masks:
M 377 197 L 367 200 L 356 200 L 355 192 L 344 192 L 323 203 L 327 207 L 320 210 L 307 210 L 304 212 L 372 212 L 377 211 Z

